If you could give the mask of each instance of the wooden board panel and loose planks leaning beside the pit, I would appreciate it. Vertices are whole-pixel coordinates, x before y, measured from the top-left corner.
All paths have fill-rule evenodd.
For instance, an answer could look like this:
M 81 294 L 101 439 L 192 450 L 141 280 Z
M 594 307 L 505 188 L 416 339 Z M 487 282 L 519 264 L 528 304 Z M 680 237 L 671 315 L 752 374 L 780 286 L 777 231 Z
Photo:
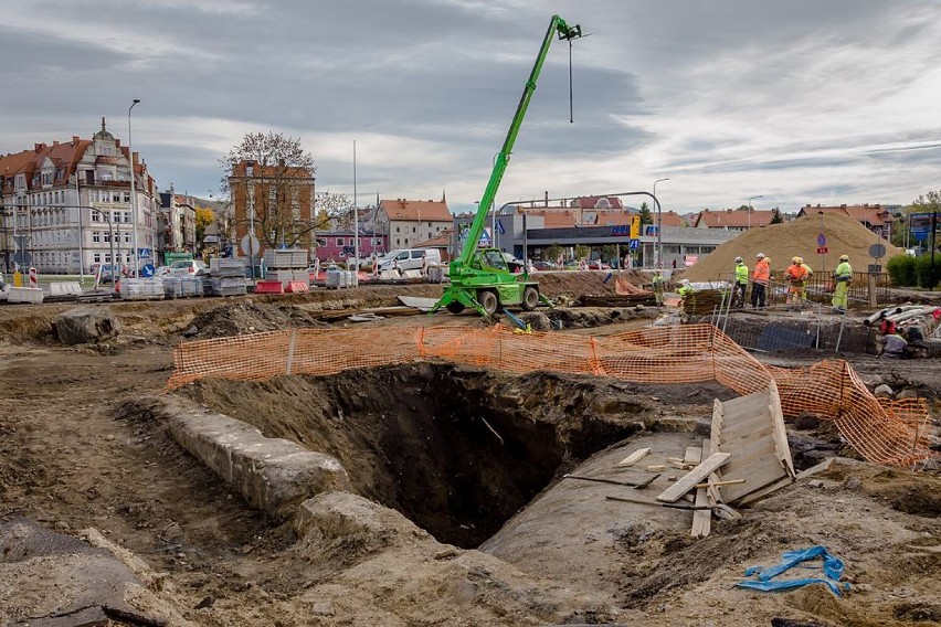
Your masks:
M 633 466 L 649 449 L 635 450 L 618 466 Z M 712 427 L 701 449 L 688 447 L 681 458 L 667 458 L 675 468 L 689 468 L 656 500 L 663 504 L 692 501 L 692 535 L 709 534 L 712 513 L 731 512 L 727 504 L 746 506 L 794 481 L 796 474 L 784 431 L 781 398 L 774 382 L 766 390 L 721 402 L 712 407 Z M 666 466 L 649 466 L 658 472 Z

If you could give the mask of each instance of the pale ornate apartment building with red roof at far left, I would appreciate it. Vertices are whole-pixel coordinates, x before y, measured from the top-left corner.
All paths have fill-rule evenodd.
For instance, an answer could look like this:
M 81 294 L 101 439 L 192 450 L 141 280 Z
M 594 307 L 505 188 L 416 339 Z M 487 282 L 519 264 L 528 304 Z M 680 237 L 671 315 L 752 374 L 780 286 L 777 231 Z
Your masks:
M 107 130 L 105 118 L 92 139 L 73 136 L 0 156 L 0 261 L 7 270 L 34 266 L 46 274 L 131 264 L 135 223 L 138 256 L 148 261 L 157 243 L 156 189 L 147 164 Z

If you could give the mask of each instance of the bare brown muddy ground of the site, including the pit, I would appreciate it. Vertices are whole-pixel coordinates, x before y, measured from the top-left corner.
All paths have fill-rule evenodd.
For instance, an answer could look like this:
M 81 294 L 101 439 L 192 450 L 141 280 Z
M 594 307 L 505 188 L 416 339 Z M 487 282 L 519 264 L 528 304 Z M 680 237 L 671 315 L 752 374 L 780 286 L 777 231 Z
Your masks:
M 602 279 L 593 275 L 590 289 L 604 289 Z M 578 285 L 559 289 L 578 294 Z M 161 393 L 184 332 L 345 325 L 317 314 L 390 306 L 402 293 L 363 289 L 277 304 L 120 304 L 114 310 L 121 336 L 71 348 L 54 340 L 50 326 L 66 306 L 0 308 L 0 521 L 25 517 L 75 538 L 99 531 L 133 562 L 150 595 L 141 604 L 170 624 L 941 620 L 941 481 L 932 472 L 854 460 L 826 424 L 789 427 L 795 463 L 807 467 L 835 455 L 845 461 L 743 510 L 741 520 L 713 521 L 704 540 L 689 536 L 688 512 L 614 503 L 605 495 L 622 492 L 562 478 L 600 472 L 645 442 L 681 450 L 708 433 L 712 400 L 733 396 L 718 384 L 635 385 L 412 364 L 334 378 L 203 381 L 179 392 L 266 435 L 339 458 L 353 491 L 382 506 L 381 525 L 358 533 L 321 528 L 302 535 L 276 524 L 173 444 L 162 425 L 128 411 L 129 402 Z M 434 296 L 440 287 L 408 291 Z M 612 325 L 581 332 L 647 322 L 628 317 L 593 312 L 592 323 Z M 480 322 L 421 316 L 368 325 L 381 334 L 416 323 Z M 760 359 L 801 365 L 815 357 Z M 868 384 L 926 396 L 938 412 L 937 362 L 887 366 L 844 357 Z M 515 532 L 524 521 L 530 527 Z M 482 543 L 486 551 L 475 549 Z M 746 567 L 815 544 L 845 561 L 853 589 L 844 597 L 820 585 L 776 594 L 732 587 Z M 0 624 L 44 615 L 49 598 L 61 597 L 63 607 L 71 598 L 63 580 L 35 568 L 30 575 L 27 557 L 0 557 Z

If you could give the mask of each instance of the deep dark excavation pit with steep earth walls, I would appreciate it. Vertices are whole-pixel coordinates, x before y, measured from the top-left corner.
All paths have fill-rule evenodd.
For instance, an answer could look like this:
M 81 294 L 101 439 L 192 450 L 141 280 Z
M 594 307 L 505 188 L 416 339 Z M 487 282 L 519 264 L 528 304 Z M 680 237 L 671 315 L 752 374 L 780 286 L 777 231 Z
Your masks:
M 476 548 L 560 472 L 642 428 L 624 384 L 414 363 L 181 391 L 268 437 L 336 457 L 352 490 Z

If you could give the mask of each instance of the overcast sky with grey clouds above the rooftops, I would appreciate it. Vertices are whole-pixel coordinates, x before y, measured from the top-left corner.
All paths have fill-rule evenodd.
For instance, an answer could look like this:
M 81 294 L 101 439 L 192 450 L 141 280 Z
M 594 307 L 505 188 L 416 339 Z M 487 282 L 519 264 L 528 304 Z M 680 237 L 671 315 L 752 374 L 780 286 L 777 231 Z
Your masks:
M 205 196 L 246 132 L 320 191 L 473 208 L 553 12 L 497 202 L 651 191 L 679 212 L 905 204 L 941 188 L 941 2 L 32 0 L 3 6 L 0 151 L 106 116 L 161 189 Z M 639 204 L 642 200 L 628 200 Z

